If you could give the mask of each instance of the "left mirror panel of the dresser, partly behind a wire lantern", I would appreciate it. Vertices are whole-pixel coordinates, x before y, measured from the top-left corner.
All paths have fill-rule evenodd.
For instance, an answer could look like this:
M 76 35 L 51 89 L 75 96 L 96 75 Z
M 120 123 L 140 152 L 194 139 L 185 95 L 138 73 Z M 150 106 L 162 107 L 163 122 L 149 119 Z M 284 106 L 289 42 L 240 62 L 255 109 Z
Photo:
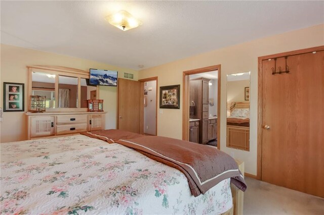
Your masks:
M 33 72 L 31 94 L 46 96 L 46 108 L 55 108 L 55 75 Z

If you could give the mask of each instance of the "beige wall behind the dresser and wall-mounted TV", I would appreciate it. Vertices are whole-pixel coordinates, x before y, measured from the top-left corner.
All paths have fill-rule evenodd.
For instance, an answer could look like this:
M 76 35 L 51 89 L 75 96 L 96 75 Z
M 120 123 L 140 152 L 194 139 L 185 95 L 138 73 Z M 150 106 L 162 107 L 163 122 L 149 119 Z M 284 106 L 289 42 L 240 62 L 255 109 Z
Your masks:
M 57 55 L 44 51 L 21 48 L 1 44 L 1 75 L 0 75 L 0 107 L 3 108 L 3 82 L 17 82 L 25 84 L 25 111 L 27 107 L 27 65 L 64 66 L 89 71 L 90 68 L 117 70 L 119 77 L 124 77 L 124 72 L 133 73 L 138 80 L 138 72 L 120 67 L 111 66 L 95 61 Z M 99 96 L 104 99 L 106 114 L 106 128 L 116 126 L 116 87 L 100 86 Z M 3 122 L 0 123 L 1 142 L 20 141 L 27 138 L 26 117 L 24 112 L 4 112 Z

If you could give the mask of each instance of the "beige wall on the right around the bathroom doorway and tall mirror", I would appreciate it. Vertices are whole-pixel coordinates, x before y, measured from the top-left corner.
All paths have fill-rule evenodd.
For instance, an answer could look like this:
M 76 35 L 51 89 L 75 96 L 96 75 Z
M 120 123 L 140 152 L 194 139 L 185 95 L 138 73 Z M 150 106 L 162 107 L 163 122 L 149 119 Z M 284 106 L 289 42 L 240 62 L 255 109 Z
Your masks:
M 221 64 L 221 121 L 219 122 L 221 125 L 221 150 L 232 154 L 237 159 L 244 160 L 246 172 L 256 175 L 258 57 L 319 45 L 324 45 L 323 24 L 221 48 L 198 56 L 142 70 L 139 72 L 139 78 L 158 76 L 159 86 L 181 84 L 182 101 L 183 71 Z M 251 149 L 249 152 L 226 147 L 225 120 L 226 75 L 247 71 L 251 71 Z M 158 135 L 182 138 L 182 107 L 183 104 L 181 103 L 180 110 L 159 110 L 157 115 Z

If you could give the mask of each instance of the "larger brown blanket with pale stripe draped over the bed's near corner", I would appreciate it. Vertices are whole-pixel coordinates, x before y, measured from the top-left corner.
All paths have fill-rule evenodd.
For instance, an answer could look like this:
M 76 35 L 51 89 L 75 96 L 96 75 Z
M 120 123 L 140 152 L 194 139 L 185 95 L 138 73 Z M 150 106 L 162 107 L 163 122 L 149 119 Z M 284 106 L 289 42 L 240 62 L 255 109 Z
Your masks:
M 143 136 L 116 142 L 180 170 L 187 177 L 194 196 L 205 194 L 227 178 L 231 178 L 231 182 L 242 191 L 247 189 L 235 160 L 217 148 L 159 136 Z

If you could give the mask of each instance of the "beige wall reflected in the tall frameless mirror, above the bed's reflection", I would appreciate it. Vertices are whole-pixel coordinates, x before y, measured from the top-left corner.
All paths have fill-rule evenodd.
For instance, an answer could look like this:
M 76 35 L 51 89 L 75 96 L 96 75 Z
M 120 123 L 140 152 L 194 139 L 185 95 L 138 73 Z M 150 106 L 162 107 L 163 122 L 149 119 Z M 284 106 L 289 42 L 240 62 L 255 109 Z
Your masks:
M 227 82 L 227 103 L 232 101 L 249 102 L 245 100 L 245 87 L 250 86 L 250 80 Z

